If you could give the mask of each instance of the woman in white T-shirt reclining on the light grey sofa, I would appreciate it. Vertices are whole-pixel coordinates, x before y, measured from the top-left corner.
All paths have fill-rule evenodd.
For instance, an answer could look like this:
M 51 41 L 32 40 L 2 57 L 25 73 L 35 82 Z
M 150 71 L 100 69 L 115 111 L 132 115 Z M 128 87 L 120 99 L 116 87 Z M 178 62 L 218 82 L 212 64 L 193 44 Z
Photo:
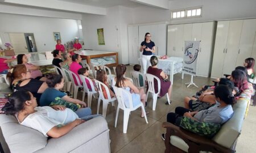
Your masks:
M 59 138 L 75 126 L 98 115 L 79 118 L 75 112 L 61 105 L 37 107 L 36 98 L 29 91 L 16 91 L 2 108 L 5 114 L 16 116 L 20 125 L 40 131 L 46 137 Z

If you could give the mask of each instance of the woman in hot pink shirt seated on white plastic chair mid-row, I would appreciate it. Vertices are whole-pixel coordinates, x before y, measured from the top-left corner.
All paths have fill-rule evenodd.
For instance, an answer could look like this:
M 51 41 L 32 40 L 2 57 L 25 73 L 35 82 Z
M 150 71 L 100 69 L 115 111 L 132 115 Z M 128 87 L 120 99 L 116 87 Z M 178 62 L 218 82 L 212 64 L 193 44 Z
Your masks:
M 80 84 L 82 84 L 82 81 L 80 79 L 80 76 L 78 74 L 78 70 L 82 68 L 82 66 L 79 64 L 82 61 L 82 58 L 79 54 L 73 54 L 72 56 L 72 63 L 69 66 L 69 70 L 71 70 L 73 73 L 75 73 L 80 81 Z M 75 76 L 73 76 L 74 80 L 75 80 L 75 84 L 77 85 L 77 80 L 75 79 Z

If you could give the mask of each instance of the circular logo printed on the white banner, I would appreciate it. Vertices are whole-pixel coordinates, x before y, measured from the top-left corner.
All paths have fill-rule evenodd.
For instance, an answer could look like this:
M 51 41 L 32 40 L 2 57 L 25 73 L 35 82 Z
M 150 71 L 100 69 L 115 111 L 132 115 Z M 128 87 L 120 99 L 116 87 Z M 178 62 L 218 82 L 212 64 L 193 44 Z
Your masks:
M 193 42 L 189 43 L 184 51 L 184 62 L 186 64 L 191 64 L 196 60 L 197 54 L 199 52 L 198 49 L 193 49 Z

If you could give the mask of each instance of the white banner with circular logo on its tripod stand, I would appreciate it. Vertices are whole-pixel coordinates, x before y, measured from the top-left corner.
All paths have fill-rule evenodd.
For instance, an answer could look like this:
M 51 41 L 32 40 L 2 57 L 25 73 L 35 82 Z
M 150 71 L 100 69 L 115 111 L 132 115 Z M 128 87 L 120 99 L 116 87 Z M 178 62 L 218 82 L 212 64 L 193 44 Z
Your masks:
M 191 80 L 188 83 L 187 88 L 191 85 L 196 86 L 196 84 L 193 82 L 193 76 L 196 74 L 196 61 L 197 61 L 197 54 L 199 52 L 199 44 L 200 41 L 185 41 L 185 52 L 184 52 L 184 63 L 183 63 L 183 72 L 185 71 L 185 74 L 191 75 Z

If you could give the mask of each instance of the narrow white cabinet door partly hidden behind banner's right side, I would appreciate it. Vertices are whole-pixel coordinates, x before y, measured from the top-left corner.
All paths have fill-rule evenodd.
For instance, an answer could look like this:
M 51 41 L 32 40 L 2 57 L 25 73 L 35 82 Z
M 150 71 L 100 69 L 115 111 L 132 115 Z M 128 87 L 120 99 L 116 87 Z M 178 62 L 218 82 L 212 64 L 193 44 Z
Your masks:
M 202 28 L 202 23 L 193 23 L 192 24 L 192 41 L 201 41 L 201 28 Z M 197 55 L 197 62 L 196 62 L 196 74 L 198 74 L 198 75 L 200 75 L 198 73 L 199 61 L 200 61 L 200 48 L 201 48 L 201 42 L 199 45 L 199 53 Z

